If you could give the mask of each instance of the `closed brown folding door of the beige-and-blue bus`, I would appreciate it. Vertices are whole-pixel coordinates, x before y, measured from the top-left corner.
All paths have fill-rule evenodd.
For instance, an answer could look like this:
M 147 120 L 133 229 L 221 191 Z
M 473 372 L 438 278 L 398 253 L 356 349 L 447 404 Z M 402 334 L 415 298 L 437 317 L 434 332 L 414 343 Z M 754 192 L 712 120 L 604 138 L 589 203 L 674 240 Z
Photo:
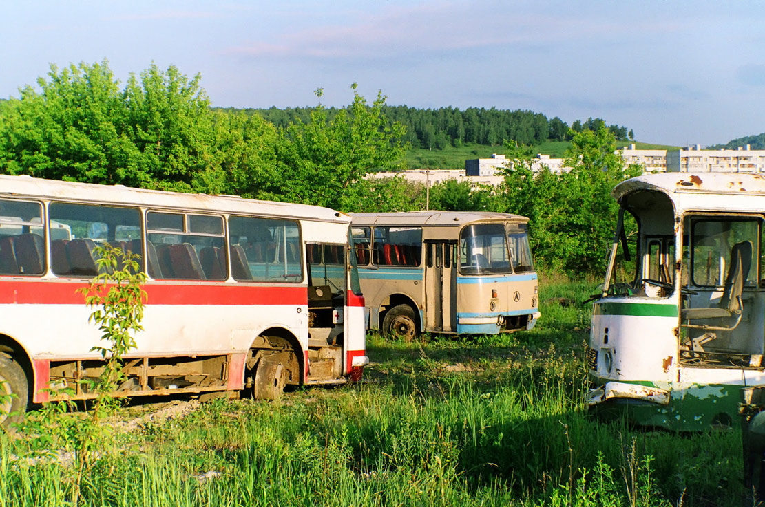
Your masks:
M 457 330 L 457 242 L 425 242 L 425 329 Z

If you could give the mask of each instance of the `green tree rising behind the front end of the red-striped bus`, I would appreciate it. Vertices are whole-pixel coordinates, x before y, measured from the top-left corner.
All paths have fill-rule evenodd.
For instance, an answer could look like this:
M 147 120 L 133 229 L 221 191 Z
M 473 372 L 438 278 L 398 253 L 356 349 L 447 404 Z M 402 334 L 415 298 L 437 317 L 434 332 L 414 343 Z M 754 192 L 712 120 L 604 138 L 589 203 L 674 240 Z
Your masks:
M 298 120 L 280 131 L 275 167 L 257 177 L 258 197 L 355 209 L 363 192 L 353 192 L 353 186 L 366 174 L 401 167 L 405 132 L 382 114 L 385 96 L 378 93 L 369 105 L 356 93 L 355 83 L 351 88 L 353 102 L 334 118 L 320 105 L 310 122 Z

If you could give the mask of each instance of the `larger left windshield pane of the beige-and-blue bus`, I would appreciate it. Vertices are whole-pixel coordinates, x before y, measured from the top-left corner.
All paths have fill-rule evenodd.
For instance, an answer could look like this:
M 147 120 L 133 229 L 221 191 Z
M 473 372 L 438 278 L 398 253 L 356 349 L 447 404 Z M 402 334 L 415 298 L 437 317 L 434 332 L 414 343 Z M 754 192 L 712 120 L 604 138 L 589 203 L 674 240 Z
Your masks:
M 463 275 L 505 275 L 513 272 L 504 224 L 483 223 L 462 229 L 460 272 Z

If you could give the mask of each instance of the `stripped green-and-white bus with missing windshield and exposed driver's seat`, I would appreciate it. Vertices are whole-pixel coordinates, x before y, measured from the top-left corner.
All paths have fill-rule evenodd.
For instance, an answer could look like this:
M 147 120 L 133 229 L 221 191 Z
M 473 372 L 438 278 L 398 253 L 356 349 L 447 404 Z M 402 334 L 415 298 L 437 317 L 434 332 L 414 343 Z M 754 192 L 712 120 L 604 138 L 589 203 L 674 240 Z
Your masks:
M 737 424 L 742 389 L 765 383 L 765 177 L 646 174 L 613 196 L 589 404 L 677 431 Z

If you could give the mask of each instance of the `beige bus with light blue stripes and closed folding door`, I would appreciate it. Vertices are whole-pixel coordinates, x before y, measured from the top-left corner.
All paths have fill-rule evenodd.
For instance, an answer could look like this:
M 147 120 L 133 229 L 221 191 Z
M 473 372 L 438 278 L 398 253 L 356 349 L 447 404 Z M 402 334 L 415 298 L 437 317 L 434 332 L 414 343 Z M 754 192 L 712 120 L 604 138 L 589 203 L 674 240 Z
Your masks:
M 539 318 L 528 219 L 506 213 L 351 213 L 367 326 L 496 334 Z

